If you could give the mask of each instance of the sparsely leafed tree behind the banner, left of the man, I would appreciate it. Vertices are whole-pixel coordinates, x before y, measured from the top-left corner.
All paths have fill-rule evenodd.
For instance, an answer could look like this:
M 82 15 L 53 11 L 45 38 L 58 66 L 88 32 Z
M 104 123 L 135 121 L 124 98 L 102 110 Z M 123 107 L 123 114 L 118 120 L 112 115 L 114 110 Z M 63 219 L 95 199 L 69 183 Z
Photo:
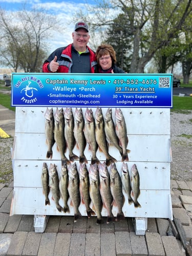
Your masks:
M 46 57 L 45 39 L 50 36 L 55 23 L 44 9 L 28 11 L 26 6 L 16 13 L 0 10 L 1 63 L 24 72 L 40 72 Z

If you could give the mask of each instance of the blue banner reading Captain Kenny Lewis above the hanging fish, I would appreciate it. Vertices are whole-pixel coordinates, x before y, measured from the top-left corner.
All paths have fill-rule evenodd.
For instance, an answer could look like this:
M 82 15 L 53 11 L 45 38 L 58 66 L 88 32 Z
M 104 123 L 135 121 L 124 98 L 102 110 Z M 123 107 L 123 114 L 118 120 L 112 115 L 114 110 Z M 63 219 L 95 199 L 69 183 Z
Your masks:
M 12 106 L 172 108 L 172 74 L 12 73 Z

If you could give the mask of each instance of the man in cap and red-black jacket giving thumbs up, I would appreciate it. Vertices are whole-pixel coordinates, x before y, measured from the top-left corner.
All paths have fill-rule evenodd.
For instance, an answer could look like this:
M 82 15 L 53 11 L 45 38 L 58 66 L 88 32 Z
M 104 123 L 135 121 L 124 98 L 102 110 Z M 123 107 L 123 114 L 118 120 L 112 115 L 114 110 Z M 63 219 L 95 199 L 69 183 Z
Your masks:
M 45 60 L 42 72 L 95 73 L 95 53 L 87 46 L 90 39 L 88 25 L 76 23 L 72 38 L 72 44 L 56 49 Z

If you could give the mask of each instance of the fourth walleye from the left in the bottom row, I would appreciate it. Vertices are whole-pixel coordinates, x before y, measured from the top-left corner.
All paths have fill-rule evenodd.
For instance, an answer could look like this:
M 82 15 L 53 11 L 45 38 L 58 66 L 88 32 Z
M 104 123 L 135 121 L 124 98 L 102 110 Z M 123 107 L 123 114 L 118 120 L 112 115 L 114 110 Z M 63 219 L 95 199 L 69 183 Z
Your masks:
M 71 199 L 71 205 L 74 207 L 74 222 L 81 216 L 79 212 L 79 205 L 81 202 L 80 193 L 79 193 L 79 174 L 77 172 L 77 166 L 74 162 L 73 164 L 68 165 L 68 192 Z

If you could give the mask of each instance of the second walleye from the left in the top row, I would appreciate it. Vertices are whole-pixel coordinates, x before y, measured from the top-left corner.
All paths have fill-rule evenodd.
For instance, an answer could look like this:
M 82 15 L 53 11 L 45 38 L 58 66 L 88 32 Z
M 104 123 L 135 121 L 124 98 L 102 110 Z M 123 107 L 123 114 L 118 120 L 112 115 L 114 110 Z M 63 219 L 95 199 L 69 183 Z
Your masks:
M 65 134 L 64 134 L 64 127 L 65 127 L 65 120 L 63 116 L 63 109 L 61 108 L 58 110 L 56 109 L 55 112 L 55 128 L 54 128 L 54 138 L 57 144 L 57 150 L 60 152 L 61 155 L 61 162 L 70 163 L 67 159 L 65 152 L 66 152 L 66 141 L 65 141 Z

